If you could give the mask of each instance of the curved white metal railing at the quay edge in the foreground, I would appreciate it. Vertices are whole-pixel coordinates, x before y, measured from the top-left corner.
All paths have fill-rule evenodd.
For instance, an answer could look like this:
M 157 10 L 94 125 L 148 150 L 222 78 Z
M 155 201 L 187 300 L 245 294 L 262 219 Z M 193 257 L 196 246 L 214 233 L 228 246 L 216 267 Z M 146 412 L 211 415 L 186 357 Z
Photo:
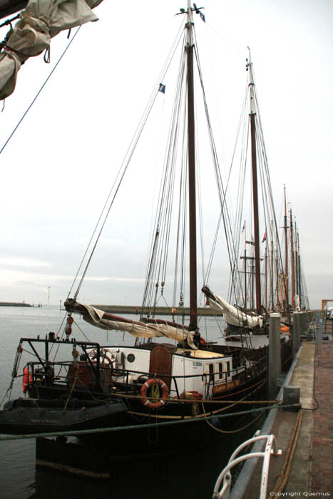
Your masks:
M 240 456 L 237 458 L 237 454 L 242 451 L 243 448 L 250 446 L 252 443 L 257 442 L 258 440 L 266 440 L 265 451 L 263 452 L 252 452 L 248 454 L 244 454 L 244 456 Z M 242 461 L 246 461 L 247 459 L 252 458 L 264 458 L 264 462 L 262 463 L 262 476 L 261 476 L 261 485 L 260 485 L 260 499 L 265 499 L 267 495 L 267 482 L 268 482 L 268 472 L 270 469 L 270 456 L 281 456 L 282 451 L 277 449 L 277 441 L 274 435 L 260 435 L 254 436 L 243 442 L 237 449 L 232 453 L 229 462 L 225 466 L 225 468 L 220 473 L 219 477 L 216 480 L 214 491 L 212 494 L 212 499 L 228 499 L 230 495 L 231 488 L 231 473 L 230 470 L 238 463 Z M 223 480 L 223 483 L 222 483 Z M 221 487 L 222 483 L 222 488 Z M 220 492 L 219 492 L 220 490 Z

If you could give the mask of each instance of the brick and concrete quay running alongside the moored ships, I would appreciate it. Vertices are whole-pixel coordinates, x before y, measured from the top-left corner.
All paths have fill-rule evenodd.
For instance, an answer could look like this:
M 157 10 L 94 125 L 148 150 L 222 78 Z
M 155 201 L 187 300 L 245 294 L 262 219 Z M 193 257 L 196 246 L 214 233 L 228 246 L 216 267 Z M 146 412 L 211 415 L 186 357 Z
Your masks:
M 297 352 L 284 385 L 300 389 L 302 419 L 298 436 L 297 410 L 272 409 L 261 431 L 262 435 L 275 435 L 277 448 L 282 449 L 282 456 L 270 458 L 267 498 L 333 496 L 332 361 L 333 341 L 319 344 L 304 341 Z M 282 397 L 283 389 L 277 398 Z M 252 448 L 252 451 L 262 450 L 262 443 L 256 443 Z M 286 465 L 289 452 L 291 459 Z M 230 499 L 260 497 L 262 462 L 262 459 L 252 459 L 245 463 Z

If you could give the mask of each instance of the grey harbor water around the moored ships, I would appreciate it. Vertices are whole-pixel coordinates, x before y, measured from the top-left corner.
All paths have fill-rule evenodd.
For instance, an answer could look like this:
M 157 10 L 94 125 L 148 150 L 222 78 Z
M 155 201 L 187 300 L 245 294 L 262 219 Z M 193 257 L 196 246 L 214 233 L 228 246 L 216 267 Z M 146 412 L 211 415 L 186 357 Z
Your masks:
M 16 348 L 21 337 L 34 338 L 53 331 L 63 331 L 65 312 L 58 307 L 0 307 L 0 401 L 3 401 L 13 370 Z M 135 318 L 135 316 L 128 316 Z M 170 320 L 170 317 L 168 318 Z M 80 341 L 98 341 L 101 344 L 134 343 L 123 338 L 118 331 L 101 331 L 82 319 L 76 319 L 73 336 Z M 83 331 L 83 332 L 82 332 Z M 202 317 L 200 331 L 209 341 L 218 341 L 221 329 L 213 317 Z M 86 335 L 86 338 L 83 336 Z M 24 351 L 19 367 L 22 373 L 29 354 Z M 23 396 L 21 377 L 16 379 L 11 398 Z M 255 428 L 250 428 L 253 434 Z M 157 446 L 153 456 L 137 456 L 112 465 L 111 478 L 106 481 L 89 480 L 46 468 L 36 468 L 34 439 L 0 442 L 0 498 L 1 499 L 209 499 L 215 480 L 224 467 L 230 453 L 248 437 L 244 433 L 226 435 L 222 443 L 216 443 L 190 451 L 163 454 Z M 195 443 L 195 429 L 193 428 Z

